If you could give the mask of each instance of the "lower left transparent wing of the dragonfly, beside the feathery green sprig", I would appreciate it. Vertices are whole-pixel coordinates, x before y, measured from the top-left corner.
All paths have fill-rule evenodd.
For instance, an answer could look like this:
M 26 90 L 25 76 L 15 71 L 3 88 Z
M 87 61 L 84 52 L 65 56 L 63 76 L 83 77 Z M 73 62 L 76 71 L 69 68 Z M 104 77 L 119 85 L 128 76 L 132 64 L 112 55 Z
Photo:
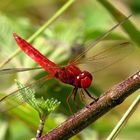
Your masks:
M 43 77 L 31 84 L 26 85 L 26 87 L 21 88 L 19 90 L 16 90 L 12 93 L 10 93 L 9 95 L 4 96 L 3 98 L 0 99 L 0 112 L 5 112 L 8 111 L 10 109 L 13 109 L 17 106 L 19 106 L 22 103 L 27 102 L 26 100 L 31 98 L 31 95 L 28 95 L 26 92 L 23 92 L 23 90 L 30 90 L 30 88 L 32 90 L 39 90 L 39 88 L 41 89 L 42 85 L 44 84 L 44 82 L 48 79 L 51 79 L 53 76 L 46 76 Z M 24 96 L 27 96 L 26 98 L 23 98 Z

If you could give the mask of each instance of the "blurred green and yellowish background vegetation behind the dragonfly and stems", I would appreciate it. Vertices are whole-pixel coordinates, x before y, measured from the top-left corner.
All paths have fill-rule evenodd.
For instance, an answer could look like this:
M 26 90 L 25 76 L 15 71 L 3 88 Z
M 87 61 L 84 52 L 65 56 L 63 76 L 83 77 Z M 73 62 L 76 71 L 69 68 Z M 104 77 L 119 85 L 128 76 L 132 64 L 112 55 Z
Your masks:
M 67 1 L 1 0 L 0 2 L 0 63 L 2 63 L 18 48 L 12 36 L 13 32 L 28 39 Z M 136 29 L 139 28 L 140 2 L 138 2 L 138 0 L 112 0 L 111 4 L 126 16 L 133 13 L 133 17 L 130 20 Z M 45 54 L 47 58 L 57 64 L 65 65 L 70 59 L 84 50 L 84 42 L 94 40 L 117 23 L 115 20 L 116 17 L 112 16 L 113 11 L 107 9 L 108 8 L 102 3 L 102 0 L 77 0 L 59 19 L 35 38 L 33 44 L 40 52 Z M 92 86 L 90 91 L 92 93 L 94 92 L 96 96 L 99 96 L 100 93 L 103 93 L 103 91 L 106 91 L 109 87 L 124 80 L 140 68 L 140 44 L 129 37 L 129 34 L 132 35 L 132 30 L 133 29 L 130 29 L 130 33 L 126 33 L 119 27 L 107 38 L 107 40 L 114 41 L 120 39 L 130 41 L 132 42 L 134 51 L 123 61 L 114 64 L 110 68 L 95 73 L 95 75 L 93 73 L 94 87 Z M 135 36 L 139 38 L 139 34 L 135 34 Z M 37 64 L 28 58 L 27 55 L 20 53 L 14 57 L 11 62 L 5 65 L 4 68 L 36 66 Z M 18 79 L 22 83 L 29 83 L 46 74 L 43 70 L 39 70 L 20 74 L 1 75 L 0 96 L 2 97 L 17 88 L 14 79 Z M 71 90 L 71 86 L 62 84 L 55 79 L 47 81 L 45 85 L 43 85 L 43 88 L 39 90 L 38 96 L 44 95 L 46 98 L 54 97 L 61 101 L 58 110 L 47 118 L 44 133 L 55 128 L 70 115 L 66 105 L 66 98 Z M 104 115 L 94 124 L 91 124 L 81 133 L 71 138 L 71 140 L 106 139 L 138 94 L 139 91 L 135 92 L 135 94 L 128 97 L 120 106 Z M 87 98 L 86 102 L 88 104 L 90 100 Z M 76 111 L 72 102 L 71 106 L 73 110 Z M 81 107 L 83 107 L 83 105 L 81 105 Z M 139 140 L 139 109 L 140 107 L 119 134 L 118 140 Z M 26 104 L 14 110 L 0 113 L 0 140 L 31 139 L 35 137 L 38 125 L 39 117 L 37 112 Z

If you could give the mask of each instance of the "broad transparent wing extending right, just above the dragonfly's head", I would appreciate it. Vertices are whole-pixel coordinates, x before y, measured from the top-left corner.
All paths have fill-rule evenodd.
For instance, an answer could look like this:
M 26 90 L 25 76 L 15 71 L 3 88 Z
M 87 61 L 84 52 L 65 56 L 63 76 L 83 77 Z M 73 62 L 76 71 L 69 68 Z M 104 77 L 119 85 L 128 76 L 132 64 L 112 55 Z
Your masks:
M 83 70 L 88 69 L 88 71 L 95 73 L 120 61 L 132 51 L 133 47 L 130 42 L 101 42 L 98 46 L 93 47 L 93 50 L 90 49 L 85 58 L 74 61 L 74 63 Z

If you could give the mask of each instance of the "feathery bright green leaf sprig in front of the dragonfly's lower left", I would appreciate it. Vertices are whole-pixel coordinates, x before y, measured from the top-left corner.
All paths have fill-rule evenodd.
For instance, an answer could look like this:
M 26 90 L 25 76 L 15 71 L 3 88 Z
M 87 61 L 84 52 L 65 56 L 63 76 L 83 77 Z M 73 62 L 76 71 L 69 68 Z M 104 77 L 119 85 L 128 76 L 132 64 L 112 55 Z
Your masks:
M 53 112 L 60 104 L 56 99 L 47 99 L 44 100 L 43 97 L 40 99 L 35 98 L 35 91 L 30 87 L 25 87 L 20 82 L 16 81 L 19 92 L 21 93 L 23 100 L 31 105 L 35 110 L 38 111 L 39 115 L 48 116 L 51 112 Z

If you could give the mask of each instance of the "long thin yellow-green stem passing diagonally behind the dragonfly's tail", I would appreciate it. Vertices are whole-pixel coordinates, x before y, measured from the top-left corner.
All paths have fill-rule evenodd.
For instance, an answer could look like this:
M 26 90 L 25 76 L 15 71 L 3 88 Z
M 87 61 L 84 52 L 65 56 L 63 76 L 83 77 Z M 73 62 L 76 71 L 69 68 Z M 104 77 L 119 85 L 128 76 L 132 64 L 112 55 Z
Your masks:
M 48 28 L 57 18 L 59 18 L 74 2 L 75 0 L 69 0 L 60 8 L 45 24 L 40 27 L 27 41 L 31 43 L 38 35 L 40 35 L 46 28 Z M 9 63 L 16 55 L 21 52 L 20 49 L 17 49 L 14 53 L 12 53 L 9 58 L 3 61 L 0 64 L 0 68 L 4 67 L 7 63 Z

